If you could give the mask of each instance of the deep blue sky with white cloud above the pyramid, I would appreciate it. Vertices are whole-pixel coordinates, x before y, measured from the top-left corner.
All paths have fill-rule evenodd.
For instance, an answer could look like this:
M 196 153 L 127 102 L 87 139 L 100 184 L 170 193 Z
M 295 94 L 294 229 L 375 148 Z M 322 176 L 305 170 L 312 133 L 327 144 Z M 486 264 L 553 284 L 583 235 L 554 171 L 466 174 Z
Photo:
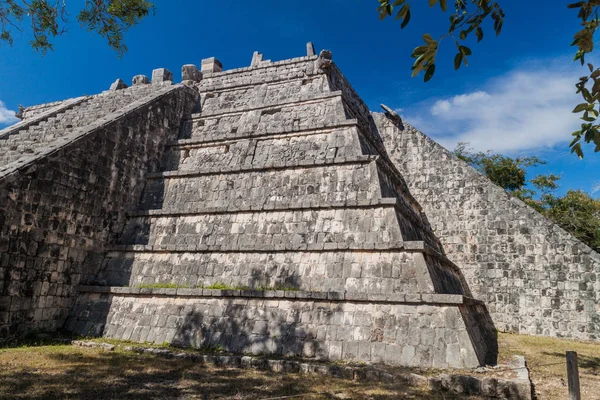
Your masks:
M 423 0 L 412 3 L 412 21 L 401 31 L 393 18 L 379 20 L 376 0 L 158 0 L 156 15 L 127 34 L 129 52 L 121 59 L 102 38 L 79 29 L 73 9 L 69 32 L 45 57 L 27 46 L 26 33 L 15 32 L 12 48 L 0 46 L 0 126 L 13 122 L 18 104 L 98 93 L 117 78 L 130 82 L 154 68 L 168 68 L 180 79 L 182 65 L 208 57 L 225 69 L 249 65 L 255 50 L 271 60 L 297 57 L 312 41 L 317 51 L 332 50 L 372 110 L 380 103 L 398 109 L 450 149 L 469 141 L 478 150 L 536 154 L 548 163 L 532 177 L 554 172 L 563 176 L 562 191 L 591 191 L 600 181 L 600 153 L 586 146 L 580 161 L 567 149 L 578 126 L 570 112 L 578 103 L 574 84 L 584 72 L 571 61 L 569 44 L 579 25 L 568 1 L 501 0 L 502 34 L 496 37 L 488 27 L 483 42 L 471 45 L 469 67 L 458 72 L 454 45 L 442 42 L 429 83 L 410 78 L 410 53 L 423 33 L 444 33 L 448 14 L 430 10 Z

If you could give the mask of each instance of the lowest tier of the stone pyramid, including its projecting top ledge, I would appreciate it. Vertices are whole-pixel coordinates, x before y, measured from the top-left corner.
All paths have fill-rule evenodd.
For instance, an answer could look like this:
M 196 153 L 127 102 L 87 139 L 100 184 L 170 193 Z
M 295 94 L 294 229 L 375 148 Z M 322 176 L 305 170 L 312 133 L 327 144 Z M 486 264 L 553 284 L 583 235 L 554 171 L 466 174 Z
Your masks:
M 82 335 L 433 368 L 495 363 L 497 354 L 493 343 L 472 342 L 461 311 L 476 303 L 460 295 L 106 287 L 82 292 L 67 323 Z

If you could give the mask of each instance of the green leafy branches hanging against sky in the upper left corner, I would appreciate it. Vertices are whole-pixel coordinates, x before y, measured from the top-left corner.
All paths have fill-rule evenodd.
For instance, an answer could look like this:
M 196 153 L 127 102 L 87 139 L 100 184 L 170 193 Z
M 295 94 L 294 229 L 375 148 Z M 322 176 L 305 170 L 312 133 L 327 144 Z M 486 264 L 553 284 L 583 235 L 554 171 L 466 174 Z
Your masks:
M 124 33 L 154 11 L 145 0 L 86 0 L 77 14 L 82 28 L 99 34 L 119 56 L 127 51 Z M 0 0 L 0 41 L 13 44 L 13 31 L 31 34 L 31 47 L 42 54 L 52 50 L 52 38 L 66 32 L 65 1 Z

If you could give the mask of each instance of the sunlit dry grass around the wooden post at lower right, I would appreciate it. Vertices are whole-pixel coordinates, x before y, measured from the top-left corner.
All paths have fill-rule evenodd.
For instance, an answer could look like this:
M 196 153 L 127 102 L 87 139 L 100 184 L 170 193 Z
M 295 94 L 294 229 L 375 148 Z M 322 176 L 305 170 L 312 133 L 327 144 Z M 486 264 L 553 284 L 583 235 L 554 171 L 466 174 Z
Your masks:
M 525 356 L 539 399 L 566 399 L 566 351 L 576 351 L 579 359 L 581 397 L 600 399 L 600 344 L 525 335 L 499 335 L 500 362 L 509 356 Z M 555 365 L 547 365 L 555 364 Z

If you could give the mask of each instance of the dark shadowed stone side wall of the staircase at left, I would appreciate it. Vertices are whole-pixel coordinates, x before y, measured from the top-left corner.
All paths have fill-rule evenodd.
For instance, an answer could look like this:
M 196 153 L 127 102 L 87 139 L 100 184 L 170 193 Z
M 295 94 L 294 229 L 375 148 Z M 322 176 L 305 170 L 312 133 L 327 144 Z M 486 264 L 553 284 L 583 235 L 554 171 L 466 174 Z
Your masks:
M 196 96 L 181 86 L 124 89 L 13 135 L 53 139 L 0 176 L 0 335 L 62 326 Z

